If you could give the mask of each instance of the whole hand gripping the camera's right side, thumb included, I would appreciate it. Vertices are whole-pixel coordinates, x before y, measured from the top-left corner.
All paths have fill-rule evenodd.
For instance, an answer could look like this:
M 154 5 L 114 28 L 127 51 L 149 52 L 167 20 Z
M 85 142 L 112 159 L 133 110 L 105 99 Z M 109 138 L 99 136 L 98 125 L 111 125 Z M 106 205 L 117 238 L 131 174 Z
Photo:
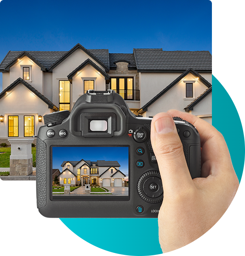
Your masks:
M 193 124 L 200 134 L 200 178 L 191 179 L 174 116 Z M 210 230 L 231 204 L 239 181 L 222 134 L 194 115 L 177 110 L 155 115 L 151 144 L 164 190 L 158 228 L 159 243 L 166 253 L 190 244 Z

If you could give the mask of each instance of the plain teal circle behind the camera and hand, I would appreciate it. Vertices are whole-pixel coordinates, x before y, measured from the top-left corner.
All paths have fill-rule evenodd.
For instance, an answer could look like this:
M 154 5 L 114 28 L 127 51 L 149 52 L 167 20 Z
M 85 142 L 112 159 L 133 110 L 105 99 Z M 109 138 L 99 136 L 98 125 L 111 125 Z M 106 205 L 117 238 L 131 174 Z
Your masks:
M 241 182 L 245 159 L 242 122 L 228 92 L 214 76 L 212 76 L 212 99 L 212 125 L 225 138 L 233 167 Z M 60 220 L 78 237 L 100 249 L 130 256 L 162 254 L 158 241 L 158 219 L 61 218 Z M 84 227 L 88 227 L 89 223 L 96 223 L 95 229 L 98 232 L 95 234 L 97 233 L 98 236 L 93 236 L 93 232 L 88 234 L 85 231 Z M 108 227 L 110 231 L 100 235 L 99 227 L 103 226 Z M 119 227 L 120 231 L 116 231 L 115 227 Z M 146 242 L 144 242 L 145 234 L 147 234 Z

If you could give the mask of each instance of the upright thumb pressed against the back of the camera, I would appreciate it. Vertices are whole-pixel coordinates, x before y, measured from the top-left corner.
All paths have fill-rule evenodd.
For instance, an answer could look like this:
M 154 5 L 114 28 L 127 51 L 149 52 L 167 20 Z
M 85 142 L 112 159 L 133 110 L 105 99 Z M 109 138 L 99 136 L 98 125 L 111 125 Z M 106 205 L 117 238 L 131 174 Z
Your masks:
M 179 191 L 183 186 L 193 184 L 183 145 L 169 113 L 159 113 L 152 119 L 151 144 L 165 192 Z

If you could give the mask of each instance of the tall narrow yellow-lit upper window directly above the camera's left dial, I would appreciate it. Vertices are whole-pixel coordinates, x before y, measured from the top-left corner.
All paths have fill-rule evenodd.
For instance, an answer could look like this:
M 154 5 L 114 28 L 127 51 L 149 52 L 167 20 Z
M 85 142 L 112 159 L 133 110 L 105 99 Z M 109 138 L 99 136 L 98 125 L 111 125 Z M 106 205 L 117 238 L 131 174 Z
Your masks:
M 70 111 L 70 81 L 59 81 L 59 111 Z

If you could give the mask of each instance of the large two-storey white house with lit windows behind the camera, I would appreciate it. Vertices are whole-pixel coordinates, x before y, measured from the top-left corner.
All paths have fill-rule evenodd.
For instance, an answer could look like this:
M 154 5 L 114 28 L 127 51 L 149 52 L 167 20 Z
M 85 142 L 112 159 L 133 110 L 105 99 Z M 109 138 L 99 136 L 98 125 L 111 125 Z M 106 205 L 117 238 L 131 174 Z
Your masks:
M 9 51 L 0 64 L 0 143 L 38 134 L 43 115 L 68 109 L 89 89 L 113 89 L 136 115 L 169 109 L 212 122 L 212 55 L 209 51 L 108 49 Z

